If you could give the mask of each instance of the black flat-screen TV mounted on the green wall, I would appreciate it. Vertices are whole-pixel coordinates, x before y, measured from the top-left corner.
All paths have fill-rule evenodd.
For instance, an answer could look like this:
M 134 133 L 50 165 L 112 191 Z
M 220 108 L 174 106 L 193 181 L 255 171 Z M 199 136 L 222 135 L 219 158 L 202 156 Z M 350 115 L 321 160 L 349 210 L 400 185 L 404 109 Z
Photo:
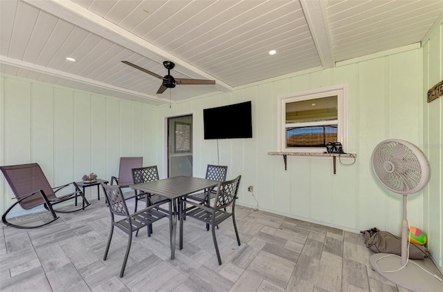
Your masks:
M 204 139 L 252 138 L 251 101 L 203 110 Z

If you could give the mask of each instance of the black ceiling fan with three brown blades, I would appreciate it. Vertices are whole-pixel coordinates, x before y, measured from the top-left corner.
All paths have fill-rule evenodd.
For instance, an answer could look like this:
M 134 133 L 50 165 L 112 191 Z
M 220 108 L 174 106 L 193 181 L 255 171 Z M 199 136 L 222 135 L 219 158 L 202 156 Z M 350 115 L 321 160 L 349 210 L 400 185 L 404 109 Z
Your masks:
M 157 94 L 165 92 L 166 88 L 174 88 L 176 84 L 215 84 L 215 80 L 206 80 L 206 79 L 184 79 L 184 78 L 174 78 L 171 76 L 171 70 L 175 67 L 175 64 L 172 61 L 163 61 L 163 66 L 168 69 L 168 75 L 161 77 L 160 75 L 146 70 L 145 68 L 141 68 L 135 64 L 132 64 L 128 61 L 122 61 L 126 65 L 132 66 L 138 70 L 141 70 L 149 75 L 162 79 L 162 84 L 157 90 Z

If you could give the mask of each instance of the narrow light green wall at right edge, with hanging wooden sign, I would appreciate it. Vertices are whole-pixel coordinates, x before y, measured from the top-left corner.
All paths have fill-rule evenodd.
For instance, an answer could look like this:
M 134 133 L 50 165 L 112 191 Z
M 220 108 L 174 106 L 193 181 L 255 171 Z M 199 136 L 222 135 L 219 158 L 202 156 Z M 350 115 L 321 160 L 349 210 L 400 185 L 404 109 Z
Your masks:
M 443 23 L 436 23 L 423 46 L 423 96 L 443 80 Z M 431 164 L 431 180 L 424 189 L 424 231 L 433 259 L 443 267 L 443 97 L 423 104 L 423 150 Z

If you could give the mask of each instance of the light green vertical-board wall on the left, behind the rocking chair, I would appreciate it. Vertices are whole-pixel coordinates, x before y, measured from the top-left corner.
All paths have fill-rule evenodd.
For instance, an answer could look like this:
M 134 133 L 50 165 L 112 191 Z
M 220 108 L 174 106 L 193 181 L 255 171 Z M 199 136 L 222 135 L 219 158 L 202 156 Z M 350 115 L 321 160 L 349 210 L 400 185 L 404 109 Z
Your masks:
M 152 123 L 142 121 L 152 117 L 150 106 L 24 78 L 0 80 L 1 165 L 37 162 L 51 186 L 60 186 L 91 172 L 108 180 L 117 176 L 120 148 L 127 156 L 143 155 L 143 136 L 151 136 Z M 0 188 L 4 212 L 15 201 L 3 175 Z M 86 193 L 96 198 L 96 188 Z

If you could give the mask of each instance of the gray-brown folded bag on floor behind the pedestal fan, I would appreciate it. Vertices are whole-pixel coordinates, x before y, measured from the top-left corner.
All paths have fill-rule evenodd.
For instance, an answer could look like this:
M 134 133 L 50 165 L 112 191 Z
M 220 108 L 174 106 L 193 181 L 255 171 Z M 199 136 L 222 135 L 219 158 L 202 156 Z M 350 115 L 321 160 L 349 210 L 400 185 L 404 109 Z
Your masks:
M 360 231 L 365 239 L 365 244 L 368 249 L 374 253 L 393 253 L 401 255 L 401 237 L 395 236 L 387 231 L 379 231 L 377 228 L 371 228 L 365 231 Z M 429 256 L 429 251 L 426 246 L 413 244 L 408 242 L 409 258 L 411 260 L 422 260 Z

